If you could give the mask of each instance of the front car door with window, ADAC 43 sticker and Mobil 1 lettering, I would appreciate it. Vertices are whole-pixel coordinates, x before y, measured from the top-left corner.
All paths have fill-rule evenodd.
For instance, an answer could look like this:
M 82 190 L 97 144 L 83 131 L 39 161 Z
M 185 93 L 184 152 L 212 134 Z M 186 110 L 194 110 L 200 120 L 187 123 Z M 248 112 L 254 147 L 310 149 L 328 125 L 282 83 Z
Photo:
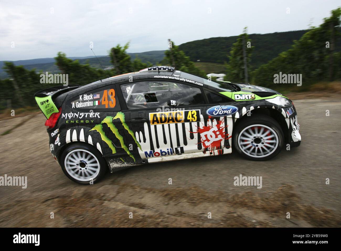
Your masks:
M 224 148 L 224 121 L 209 119 L 203 89 L 170 81 L 143 81 L 120 86 L 141 158 L 149 162 L 180 154 L 206 153 Z M 213 129 L 212 129 L 213 128 Z M 130 137 L 127 135 L 127 137 Z M 214 147 L 213 147 L 214 148 Z

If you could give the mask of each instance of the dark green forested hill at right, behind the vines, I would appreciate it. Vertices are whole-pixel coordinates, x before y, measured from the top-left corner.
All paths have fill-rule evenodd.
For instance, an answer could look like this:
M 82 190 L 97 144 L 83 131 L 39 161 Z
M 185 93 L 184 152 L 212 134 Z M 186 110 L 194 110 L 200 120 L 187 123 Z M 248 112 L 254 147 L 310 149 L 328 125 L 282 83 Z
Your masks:
M 252 51 L 251 68 L 258 68 L 266 64 L 279 53 L 286 51 L 293 44 L 293 40 L 298 40 L 307 30 L 296 30 L 286 32 L 275 32 L 267 34 L 249 34 L 251 46 L 255 46 Z M 179 45 L 192 61 L 224 63 L 228 61 L 227 54 L 231 50 L 232 44 L 236 42 L 238 36 L 218 37 L 196 40 Z M 338 41 L 336 50 L 340 50 Z M 323 46 L 323 45 L 322 45 Z

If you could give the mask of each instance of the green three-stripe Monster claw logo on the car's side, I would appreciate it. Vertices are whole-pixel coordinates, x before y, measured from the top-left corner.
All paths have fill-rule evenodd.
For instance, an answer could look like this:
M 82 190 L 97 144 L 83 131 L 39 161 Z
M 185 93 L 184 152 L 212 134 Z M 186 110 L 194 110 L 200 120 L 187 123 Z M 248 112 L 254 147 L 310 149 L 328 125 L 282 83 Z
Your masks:
M 104 131 L 103 131 L 103 124 L 107 124 L 107 126 L 110 128 L 110 130 L 112 131 L 112 133 L 116 136 L 116 138 L 120 141 L 121 143 L 121 147 L 124 149 L 125 152 L 127 152 L 127 154 L 134 160 L 134 162 L 136 162 L 134 156 L 132 153 L 130 153 L 128 147 L 124 144 L 123 141 L 123 137 L 120 135 L 118 129 L 116 128 L 116 126 L 113 124 L 113 121 L 115 119 L 119 119 L 124 127 L 125 130 L 128 131 L 128 133 L 133 137 L 135 143 L 137 144 L 137 146 L 139 148 L 141 148 L 141 145 L 137 142 L 134 133 L 132 130 L 129 129 L 128 125 L 125 123 L 124 121 L 124 114 L 122 112 L 118 112 L 116 114 L 115 117 L 113 116 L 106 116 L 104 118 L 104 120 L 102 120 L 102 122 L 100 124 L 95 125 L 92 129 L 90 129 L 90 131 L 95 130 L 97 131 L 100 135 L 102 140 L 107 143 L 107 145 L 109 146 L 109 148 L 112 150 L 113 154 L 116 153 L 116 148 L 114 147 L 113 142 L 105 135 Z

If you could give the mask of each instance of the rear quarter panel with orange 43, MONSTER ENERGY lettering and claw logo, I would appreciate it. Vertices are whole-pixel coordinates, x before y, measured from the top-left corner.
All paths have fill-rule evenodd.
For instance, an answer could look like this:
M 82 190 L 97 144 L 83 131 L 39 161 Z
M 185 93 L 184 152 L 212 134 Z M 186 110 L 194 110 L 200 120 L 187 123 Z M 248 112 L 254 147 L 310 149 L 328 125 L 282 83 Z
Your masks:
M 96 147 L 106 158 L 122 158 L 134 162 L 126 141 L 124 114 L 121 112 L 114 83 L 100 88 L 88 88 L 77 93 L 66 105 L 71 112 L 63 113 L 66 143 L 83 141 Z

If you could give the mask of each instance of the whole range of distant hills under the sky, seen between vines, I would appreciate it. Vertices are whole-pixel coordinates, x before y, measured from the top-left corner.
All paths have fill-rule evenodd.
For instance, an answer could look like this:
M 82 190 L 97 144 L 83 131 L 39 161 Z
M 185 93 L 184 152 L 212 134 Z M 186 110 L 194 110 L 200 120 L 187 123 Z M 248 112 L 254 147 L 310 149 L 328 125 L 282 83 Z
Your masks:
M 341 29 L 340 29 L 341 31 Z M 307 32 L 307 30 L 275 32 L 268 34 L 249 34 L 251 45 L 255 46 L 251 57 L 252 70 L 260 65 L 266 64 L 275 58 L 279 53 L 288 50 L 294 40 Z M 191 41 L 179 45 L 180 50 L 184 51 L 192 61 L 197 62 L 199 68 L 209 73 L 222 73 L 225 71 L 224 62 L 228 61 L 227 54 L 231 50 L 231 46 L 237 40 L 237 36 L 208 38 L 202 40 Z M 323 45 L 324 46 L 324 45 Z M 336 51 L 340 51 L 341 41 L 336 42 Z M 159 63 L 164 58 L 165 51 L 149 51 L 141 53 L 128 53 L 133 60 L 137 55 L 142 62 L 150 62 L 153 65 Z M 91 67 L 101 68 L 98 60 L 94 56 L 88 57 L 69 57 L 73 60 L 79 59 L 81 64 L 90 64 Z M 98 56 L 104 68 L 112 67 L 108 56 Z M 36 69 L 37 72 L 58 73 L 59 69 L 55 65 L 54 58 L 36 58 L 30 60 L 13 61 L 15 65 L 24 65 L 27 69 Z M 7 74 L 2 69 L 4 61 L 0 61 L 0 79 L 6 78 Z M 213 64 L 212 64 L 213 63 Z M 135 69 L 139 70 L 139 69 Z

